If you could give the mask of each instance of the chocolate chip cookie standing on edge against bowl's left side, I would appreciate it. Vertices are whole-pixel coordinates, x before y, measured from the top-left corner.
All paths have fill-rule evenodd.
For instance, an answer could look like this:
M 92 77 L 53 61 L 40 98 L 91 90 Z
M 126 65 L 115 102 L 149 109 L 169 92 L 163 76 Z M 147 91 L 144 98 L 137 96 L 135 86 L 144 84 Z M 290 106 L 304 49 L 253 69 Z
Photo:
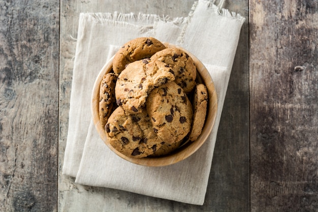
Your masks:
M 100 122 L 103 128 L 111 112 L 117 107 L 115 98 L 115 84 L 117 76 L 114 73 L 108 73 L 103 76 L 100 85 Z

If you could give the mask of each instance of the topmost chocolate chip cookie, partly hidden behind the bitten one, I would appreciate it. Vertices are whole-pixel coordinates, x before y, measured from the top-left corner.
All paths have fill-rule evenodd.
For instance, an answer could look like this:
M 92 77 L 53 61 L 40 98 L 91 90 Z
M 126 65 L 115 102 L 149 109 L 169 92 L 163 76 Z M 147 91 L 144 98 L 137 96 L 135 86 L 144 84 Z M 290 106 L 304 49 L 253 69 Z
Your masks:
M 165 45 L 155 38 L 136 38 L 125 43 L 115 54 L 113 70 L 116 74 L 125 69 L 127 64 L 151 57 L 155 52 L 165 49 Z

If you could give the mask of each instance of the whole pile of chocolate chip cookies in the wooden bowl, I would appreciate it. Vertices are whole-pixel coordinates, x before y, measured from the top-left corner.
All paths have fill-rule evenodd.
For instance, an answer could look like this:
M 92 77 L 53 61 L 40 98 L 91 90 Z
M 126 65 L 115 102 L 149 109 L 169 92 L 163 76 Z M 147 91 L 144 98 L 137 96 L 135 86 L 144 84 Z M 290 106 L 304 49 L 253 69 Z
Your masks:
M 137 38 L 115 54 L 100 84 L 100 123 L 121 154 L 160 157 L 201 134 L 208 93 L 193 59 L 154 38 Z

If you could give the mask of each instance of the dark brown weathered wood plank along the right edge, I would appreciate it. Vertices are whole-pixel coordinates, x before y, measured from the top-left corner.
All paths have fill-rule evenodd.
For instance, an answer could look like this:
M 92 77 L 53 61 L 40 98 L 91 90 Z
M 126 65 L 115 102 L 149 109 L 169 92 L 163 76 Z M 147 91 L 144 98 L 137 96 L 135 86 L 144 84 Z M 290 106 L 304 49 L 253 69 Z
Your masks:
M 250 1 L 251 211 L 318 210 L 317 1 Z

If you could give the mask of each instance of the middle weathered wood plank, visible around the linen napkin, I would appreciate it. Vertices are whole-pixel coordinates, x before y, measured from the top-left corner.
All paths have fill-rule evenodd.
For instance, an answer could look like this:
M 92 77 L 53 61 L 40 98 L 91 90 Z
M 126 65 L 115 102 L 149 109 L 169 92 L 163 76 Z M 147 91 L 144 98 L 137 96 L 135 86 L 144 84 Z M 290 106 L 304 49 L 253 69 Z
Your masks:
M 194 1 L 61 1 L 58 211 L 249 211 L 248 161 L 248 21 L 242 28 L 216 141 L 206 202 L 183 204 L 106 188 L 74 183 L 61 175 L 67 130 L 73 57 L 80 12 L 142 12 L 187 16 Z M 225 8 L 248 18 L 246 0 L 226 1 Z M 239 105 L 238 105 L 239 102 Z M 232 131 L 229 132 L 229 123 Z M 82 204 L 89 202 L 89 205 Z

